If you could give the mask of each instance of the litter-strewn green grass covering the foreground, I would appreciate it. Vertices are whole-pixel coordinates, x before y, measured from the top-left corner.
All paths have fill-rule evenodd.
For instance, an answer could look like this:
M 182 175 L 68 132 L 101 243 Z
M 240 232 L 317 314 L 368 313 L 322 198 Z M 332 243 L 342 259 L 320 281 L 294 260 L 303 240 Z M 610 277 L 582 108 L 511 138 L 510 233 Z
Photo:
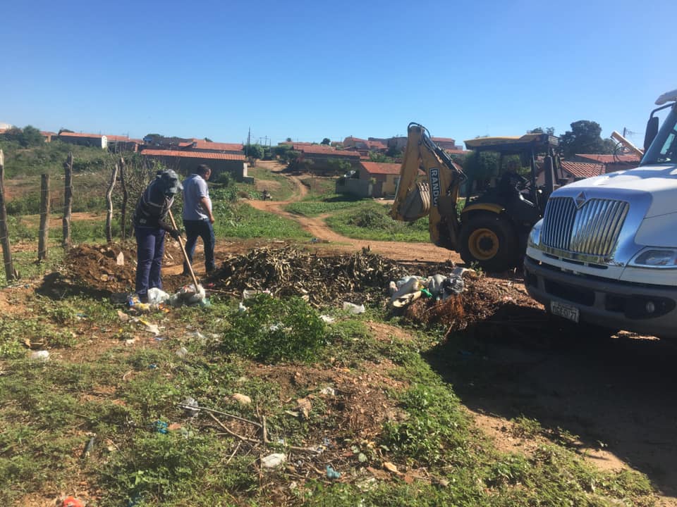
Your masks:
M 211 308 L 154 313 L 146 318 L 166 327 L 163 342 L 133 349 L 120 342 L 96 361 L 63 361 L 58 352 L 47 363 L 5 356 L 0 375 L 0 499 L 16 503 L 26 494 L 72 492 L 72 484 L 84 478 L 87 487 L 82 489 L 100 492 L 99 499 L 90 499 L 92 507 L 130 501 L 179 506 L 195 498 L 205 505 L 272 505 L 281 501 L 272 496 L 276 484 L 281 494 L 291 495 L 287 504 L 308 506 L 654 502 L 645 476 L 628 470 L 599 472 L 566 446 L 542 445 L 530 456 L 496 451 L 473 429 L 453 387 L 420 356 L 431 337 L 420 335 L 407 342 L 375 339 L 362 315 L 339 312 L 337 323 L 324 325 L 317 320 L 318 312 L 298 299 L 260 296 L 248 304 L 249 315 L 238 313 L 233 301 L 218 298 Z M 27 305 L 40 314 L 28 320 L 6 315 L 3 325 L 18 332 L 22 325 L 36 327 L 38 320 L 54 329 L 79 323 L 78 342 L 100 333 L 88 330 L 92 325 L 135 330 L 135 323 L 121 323 L 116 308 L 105 301 L 36 296 Z M 78 320 L 83 312 L 85 320 Z M 370 315 L 377 318 L 377 312 Z M 185 328 L 188 323 L 190 330 Z M 286 339 L 274 339 L 270 323 L 281 323 Z M 189 334 L 193 330 L 201 330 L 204 337 L 196 339 Z M 181 345 L 189 351 L 183 359 L 174 353 Z M 341 392 L 336 401 L 314 396 L 307 418 L 291 417 L 289 412 L 298 410 L 295 400 L 317 387 L 291 384 L 294 391 L 283 395 L 277 382 L 255 375 L 262 366 L 249 357 L 265 358 L 271 365 L 285 361 L 294 365 L 291 371 L 298 371 L 300 379 L 307 361 L 318 370 L 338 364 L 341 375 L 353 375 L 356 381 L 370 371 L 369 364 L 391 358 L 398 364 L 389 373 L 391 386 L 400 382 L 401 387 L 390 387 L 386 395 L 404 415 L 386 420 L 371 441 L 356 439 L 338 426 Z M 252 404 L 233 401 L 235 392 L 248 394 Z M 355 392 L 360 398 L 367 394 Z M 338 454 L 330 453 L 325 461 L 324 455 L 295 453 L 294 466 L 306 470 L 304 463 L 310 460 L 324 469 L 331 463 L 341 472 L 341 482 L 315 472 L 306 481 L 282 469 L 265 473 L 262 484 L 256 466 L 261 449 L 250 449 L 251 444 L 224 434 L 206 415 L 186 417 L 176 406 L 185 396 L 248 420 L 265 414 L 269 434 L 293 445 L 304 446 L 326 435 L 338 446 Z M 163 425 L 171 423 L 181 428 L 164 432 Z M 521 418 L 516 423 L 525 436 L 542 432 L 537 421 Z M 94 446 L 85 457 L 92 436 Z M 283 451 L 276 445 L 269 446 L 269 452 Z M 403 475 L 370 480 L 366 467 L 380 469 L 385 461 L 413 482 Z M 295 489 L 288 488 L 291 482 L 297 483 Z

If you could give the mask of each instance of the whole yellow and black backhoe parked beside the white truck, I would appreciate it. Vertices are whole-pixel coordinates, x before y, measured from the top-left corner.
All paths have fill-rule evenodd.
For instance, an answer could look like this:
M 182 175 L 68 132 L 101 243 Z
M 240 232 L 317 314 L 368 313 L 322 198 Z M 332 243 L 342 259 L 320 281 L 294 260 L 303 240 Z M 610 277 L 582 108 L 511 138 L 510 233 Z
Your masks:
M 468 178 L 434 144 L 425 127 L 410 123 L 391 217 L 413 222 L 429 215 L 430 240 L 437 246 L 458 251 L 465 263 L 477 263 L 484 270 L 513 268 L 524 255 L 529 231 L 542 218 L 549 195 L 562 182 L 555 179 L 558 142 L 549 134 L 466 141 L 478 160 L 483 151 L 498 155 L 494 173 L 480 180 Z M 544 170 L 542 187 L 536 183 L 537 162 Z M 528 174 L 522 174 L 524 170 Z

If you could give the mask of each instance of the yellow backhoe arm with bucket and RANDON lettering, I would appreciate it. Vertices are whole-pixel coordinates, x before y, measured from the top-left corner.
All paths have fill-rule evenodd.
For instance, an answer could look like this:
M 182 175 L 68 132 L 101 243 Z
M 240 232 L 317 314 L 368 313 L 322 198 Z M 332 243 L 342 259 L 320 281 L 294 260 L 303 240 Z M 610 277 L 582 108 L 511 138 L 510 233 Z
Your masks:
M 461 168 L 432 142 L 425 127 L 410 123 L 391 217 L 413 222 L 429 215 L 430 240 L 456 250 L 460 227 L 456 201 L 464 181 Z

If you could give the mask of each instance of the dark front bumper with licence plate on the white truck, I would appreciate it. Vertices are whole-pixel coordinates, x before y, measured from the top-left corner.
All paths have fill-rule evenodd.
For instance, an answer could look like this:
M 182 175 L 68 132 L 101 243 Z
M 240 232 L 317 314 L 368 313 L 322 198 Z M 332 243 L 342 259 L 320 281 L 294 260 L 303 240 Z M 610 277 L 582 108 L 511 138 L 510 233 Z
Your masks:
M 579 321 L 677 338 L 677 288 L 568 273 L 525 257 L 525 286 L 550 311 L 551 301 L 578 308 Z

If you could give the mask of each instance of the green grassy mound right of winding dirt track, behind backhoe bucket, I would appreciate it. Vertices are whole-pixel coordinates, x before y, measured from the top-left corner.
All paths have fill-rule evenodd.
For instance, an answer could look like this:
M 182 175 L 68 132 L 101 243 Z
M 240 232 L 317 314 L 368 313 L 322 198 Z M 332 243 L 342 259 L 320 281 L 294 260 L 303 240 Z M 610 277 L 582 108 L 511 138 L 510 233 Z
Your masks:
M 429 241 L 428 218 L 413 223 L 393 220 L 388 215 L 389 206 L 368 201 L 329 216 L 327 224 L 343 236 L 355 239 L 374 239 L 396 242 Z

